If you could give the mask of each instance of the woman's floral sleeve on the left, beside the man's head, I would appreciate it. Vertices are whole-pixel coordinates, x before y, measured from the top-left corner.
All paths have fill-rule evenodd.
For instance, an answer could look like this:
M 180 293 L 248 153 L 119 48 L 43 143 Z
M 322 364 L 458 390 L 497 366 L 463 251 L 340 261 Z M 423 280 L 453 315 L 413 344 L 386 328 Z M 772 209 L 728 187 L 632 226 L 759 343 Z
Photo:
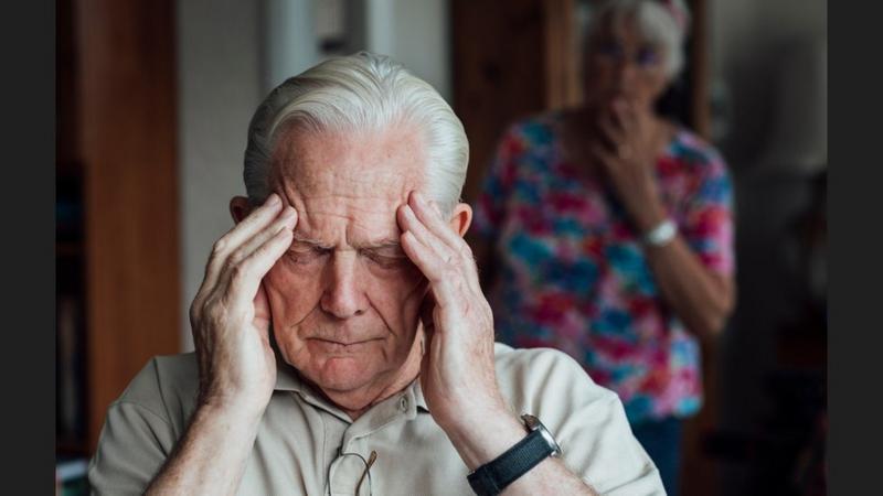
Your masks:
M 493 159 L 475 201 L 472 229 L 482 238 L 494 239 L 506 219 L 506 205 L 515 183 L 517 163 L 524 149 L 518 125 L 511 126 L 497 144 Z

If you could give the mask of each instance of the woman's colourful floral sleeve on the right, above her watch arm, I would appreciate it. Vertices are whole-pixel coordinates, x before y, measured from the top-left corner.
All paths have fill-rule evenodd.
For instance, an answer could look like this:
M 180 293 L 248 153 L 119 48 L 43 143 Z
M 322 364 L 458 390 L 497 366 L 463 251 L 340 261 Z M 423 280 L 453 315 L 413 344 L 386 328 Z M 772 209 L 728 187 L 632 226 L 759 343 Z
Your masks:
M 714 272 L 735 272 L 733 184 L 721 155 L 710 149 L 694 168 L 680 228 L 687 244 Z

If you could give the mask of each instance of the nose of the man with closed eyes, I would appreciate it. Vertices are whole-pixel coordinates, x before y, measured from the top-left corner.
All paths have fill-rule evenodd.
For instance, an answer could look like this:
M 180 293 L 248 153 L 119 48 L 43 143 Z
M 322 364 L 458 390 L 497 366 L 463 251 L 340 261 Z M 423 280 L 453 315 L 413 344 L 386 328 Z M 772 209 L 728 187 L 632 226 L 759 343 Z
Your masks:
M 322 310 L 338 319 L 361 315 L 368 309 L 368 298 L 357 258 L 352 251 L 334 254 L 322 276 L 325 278 Z

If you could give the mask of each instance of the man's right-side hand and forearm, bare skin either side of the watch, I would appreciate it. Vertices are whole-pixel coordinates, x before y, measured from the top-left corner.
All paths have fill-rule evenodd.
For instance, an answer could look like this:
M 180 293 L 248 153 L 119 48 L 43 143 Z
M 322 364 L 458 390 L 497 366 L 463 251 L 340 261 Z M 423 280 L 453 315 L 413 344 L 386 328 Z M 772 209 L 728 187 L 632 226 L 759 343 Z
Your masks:
M 493 315 L 469 246 L 438 208 L 411 193 L 397 212 L 402 248 L 429 281 L 422 315 L 426 349 L 421 384 L 429 413 L 474 471 L 524 439 L 497 384 Z M 507 495 L 595 493 L 561 461 L 546 459 Z

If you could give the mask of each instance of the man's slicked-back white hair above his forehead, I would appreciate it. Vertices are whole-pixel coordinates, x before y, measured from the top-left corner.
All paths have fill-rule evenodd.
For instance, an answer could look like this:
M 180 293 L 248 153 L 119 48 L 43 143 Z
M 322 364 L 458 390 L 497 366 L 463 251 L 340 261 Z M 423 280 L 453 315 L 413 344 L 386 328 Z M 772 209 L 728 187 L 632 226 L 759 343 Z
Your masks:
M 450 213 L 460 198 L 469 142 L 450 106 L 426 82 L 384 55 L 334 57 L 277 86 L 248 126 L 244 180 L 249 201 L 269 191 L 272 157 L 283 131 L 382 132 L 397 126 L 422 133 L 425 194 Z

